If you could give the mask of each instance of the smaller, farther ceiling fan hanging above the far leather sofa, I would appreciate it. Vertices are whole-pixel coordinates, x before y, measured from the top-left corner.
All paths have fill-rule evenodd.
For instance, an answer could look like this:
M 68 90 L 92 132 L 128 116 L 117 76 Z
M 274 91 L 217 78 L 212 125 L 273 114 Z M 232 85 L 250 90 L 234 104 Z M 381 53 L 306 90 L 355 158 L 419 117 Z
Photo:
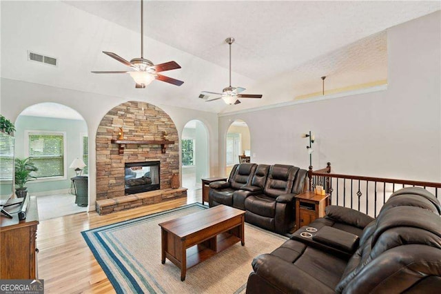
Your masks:
M 246 89 L 241 87 L 232 87 L 232 43 L 234 43 L 234 38 L 228 37 L 227 39 L 225 39 L 225 42 L 229 45 L 229 86 L 227 88 L 223 88 L 222 93 L 202 91 L 201 95 L 199 95 L 199 98 L 205 99 L 205 102 L 215 101 L 222 98 L 223 101 L 225 101 L 225 103 L 229 105 L 240 104 L 238 98 L 262 98 L 262 95 L 239 94 Z M 220 97 L 210 99 L 210 95 L 220 95 Z

